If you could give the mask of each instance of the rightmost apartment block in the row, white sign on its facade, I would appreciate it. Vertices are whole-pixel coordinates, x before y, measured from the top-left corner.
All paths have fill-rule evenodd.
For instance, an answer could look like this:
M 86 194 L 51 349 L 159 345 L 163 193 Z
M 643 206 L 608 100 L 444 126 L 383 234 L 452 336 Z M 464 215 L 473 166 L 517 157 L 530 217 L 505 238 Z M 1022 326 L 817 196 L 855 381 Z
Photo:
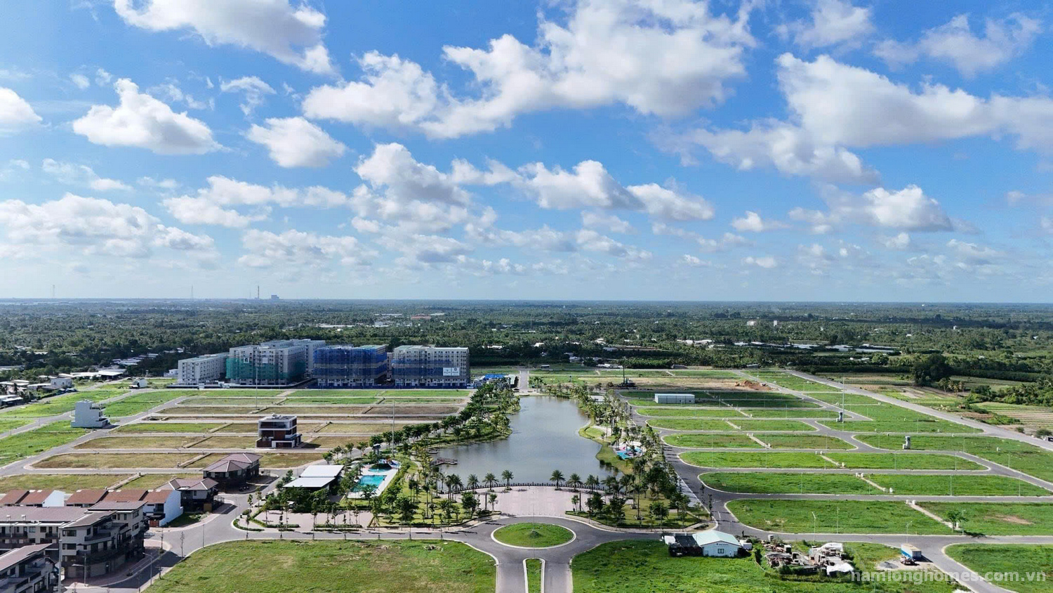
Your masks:
M 400 345 L 392 352 L 391 367 L 396 388 L 464 389 L 469 383 L 466 348 Z

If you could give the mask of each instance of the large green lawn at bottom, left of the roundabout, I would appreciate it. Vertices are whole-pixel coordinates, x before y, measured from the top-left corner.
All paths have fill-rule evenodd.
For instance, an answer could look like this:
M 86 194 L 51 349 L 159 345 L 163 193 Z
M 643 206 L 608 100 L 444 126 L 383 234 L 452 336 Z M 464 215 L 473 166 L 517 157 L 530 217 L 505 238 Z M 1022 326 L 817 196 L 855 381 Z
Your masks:
M 176 565 L 152 593 L 492 593 L 494 560 L 454 541 L 237 541 Z

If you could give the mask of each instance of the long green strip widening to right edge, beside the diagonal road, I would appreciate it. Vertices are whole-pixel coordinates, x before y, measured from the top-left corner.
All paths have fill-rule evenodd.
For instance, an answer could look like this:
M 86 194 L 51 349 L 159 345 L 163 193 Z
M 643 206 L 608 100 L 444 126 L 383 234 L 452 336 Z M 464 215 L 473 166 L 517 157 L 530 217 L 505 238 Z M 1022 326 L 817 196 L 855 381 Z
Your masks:
M 883 435 L 858 435 L 859 440 L 878 448 L 898 448 L 901 438 Z M 1019 472 L 1053 481 L 1053 452 L 1034 444 L 994 436 L 913 435 L 911 449 L 916 451 L 965 451 Z

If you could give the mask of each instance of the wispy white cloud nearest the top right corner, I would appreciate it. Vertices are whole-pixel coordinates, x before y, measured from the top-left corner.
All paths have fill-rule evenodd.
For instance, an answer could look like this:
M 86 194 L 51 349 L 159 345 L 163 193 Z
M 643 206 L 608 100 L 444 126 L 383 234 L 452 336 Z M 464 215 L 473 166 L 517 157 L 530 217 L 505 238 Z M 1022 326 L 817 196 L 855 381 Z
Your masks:
M 916 42 L 882 41 L 874 53 L 891 66 L 921 57 L 948 62 L 966 77 L 990 72 L 1020 55 L 1042 31 L 1040 21 L 1020 14 L 1004 20 L 987 19 L 984 36 L 969 26 L 969 15 L 958 15 L 945 25 L 926 31 Z

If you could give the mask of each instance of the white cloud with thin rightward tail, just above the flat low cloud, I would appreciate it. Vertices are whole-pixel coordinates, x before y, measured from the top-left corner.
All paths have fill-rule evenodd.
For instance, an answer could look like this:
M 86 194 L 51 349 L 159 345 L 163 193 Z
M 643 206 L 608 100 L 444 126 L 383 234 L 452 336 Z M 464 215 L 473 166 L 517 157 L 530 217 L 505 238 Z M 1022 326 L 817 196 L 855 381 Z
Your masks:
M 340 192 L 313 185 L 303 189 L 282 185 L 256 185 L 214 175 L 207 180 L 208 186 L 201 187 L 196 195 L 166 198 L 164 207 L 180 222 L 186 224 L 217 224 L 229 228 L 244 228 L 254 220 L 263 220 L 272 205 L 281 207 L 339 207 L 350 203 L 350 198 Z M 247 214 L 238 206 L 251 206 Z

